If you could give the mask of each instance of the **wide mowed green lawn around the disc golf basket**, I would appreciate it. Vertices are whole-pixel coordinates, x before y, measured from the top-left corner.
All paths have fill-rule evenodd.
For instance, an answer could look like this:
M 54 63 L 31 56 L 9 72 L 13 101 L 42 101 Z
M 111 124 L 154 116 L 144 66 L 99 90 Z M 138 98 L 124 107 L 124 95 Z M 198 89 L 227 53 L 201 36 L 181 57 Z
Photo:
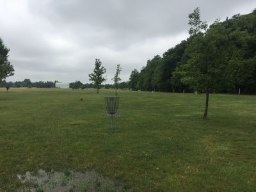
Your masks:
M 96 172 L 132 191 L 256 191 L 256 96 L 118 91 L 0 90 L 0 191 L 17 174 Z M 84 101 L 80 99 L 83 98 Z

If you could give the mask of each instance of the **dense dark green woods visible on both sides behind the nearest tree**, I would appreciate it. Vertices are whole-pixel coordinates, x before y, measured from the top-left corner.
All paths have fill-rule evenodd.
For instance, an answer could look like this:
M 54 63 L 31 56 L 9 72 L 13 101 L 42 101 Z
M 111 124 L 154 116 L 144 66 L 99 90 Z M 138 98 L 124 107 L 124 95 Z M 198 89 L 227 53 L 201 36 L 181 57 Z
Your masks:
M 228 53 L 231 55 L 228 65 L 231 66 L 230 70 L 234 70 L 234 75 L 228 77 L 232 86 L 223 86 L 216 92 L 237 93 L 241 89 L 241 93 L 256 93 L 256 10 L 247 15 L 234 15 L 218 24 L 225 29 L 221 33 L 225 33 L 230 38 L 230 44 L 235 44 L 237 49 L 236 52 Z M 176 68 L 188 63 L 189 56 L 193 54 L 189 46 L 192 40 L 193 36 L 164 52 L 163 56 L 154 56 L 140 71 L 132 70 L 129 88 L 157 92 L 196 91 L 189 89 L 177 76 L 173 76 Z M 233 50 L 227 47 L 225 51 Z

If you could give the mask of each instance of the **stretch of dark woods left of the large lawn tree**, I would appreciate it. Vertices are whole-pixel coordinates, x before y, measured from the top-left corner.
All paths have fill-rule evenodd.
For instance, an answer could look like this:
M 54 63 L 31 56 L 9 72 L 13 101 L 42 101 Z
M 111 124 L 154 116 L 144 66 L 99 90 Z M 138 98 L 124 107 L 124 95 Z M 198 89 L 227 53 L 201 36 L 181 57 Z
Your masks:
M 187 86 L 175 83 L 172 80 L 172 72 L 179 63 L 185 60 L 184 51 L 189 44 L 189 40 L 184 40 L 175 47 L 164 52 L 163 57 L 157 55 L 152 60 L 147 61 L 147 66 L 143 67 L 136 80 L 136 89 L 143 91 L 170 92 L 175 89 L 182 91 Z

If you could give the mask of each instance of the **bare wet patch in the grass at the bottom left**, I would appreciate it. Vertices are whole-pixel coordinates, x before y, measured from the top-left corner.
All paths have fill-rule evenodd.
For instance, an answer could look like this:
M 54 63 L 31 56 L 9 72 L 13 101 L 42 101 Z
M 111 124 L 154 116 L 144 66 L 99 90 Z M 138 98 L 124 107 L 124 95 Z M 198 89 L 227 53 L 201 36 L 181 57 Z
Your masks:
M 26 172 L 17 175 L 22 187 L 18 191 L 130 191 L 124 184 L 116 184 L 95 171 Z

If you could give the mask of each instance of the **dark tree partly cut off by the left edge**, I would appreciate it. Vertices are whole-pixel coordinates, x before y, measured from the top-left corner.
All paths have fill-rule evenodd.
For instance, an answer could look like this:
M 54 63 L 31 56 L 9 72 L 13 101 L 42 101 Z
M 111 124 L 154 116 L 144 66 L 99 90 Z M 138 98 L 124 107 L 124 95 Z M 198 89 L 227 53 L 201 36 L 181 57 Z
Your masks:
M 4 45 L 3 40 L 0 38 L 0 83 L 6 77 L 14 75 L 13 65 L 8 61 L 9 51 L 10 49 Z

